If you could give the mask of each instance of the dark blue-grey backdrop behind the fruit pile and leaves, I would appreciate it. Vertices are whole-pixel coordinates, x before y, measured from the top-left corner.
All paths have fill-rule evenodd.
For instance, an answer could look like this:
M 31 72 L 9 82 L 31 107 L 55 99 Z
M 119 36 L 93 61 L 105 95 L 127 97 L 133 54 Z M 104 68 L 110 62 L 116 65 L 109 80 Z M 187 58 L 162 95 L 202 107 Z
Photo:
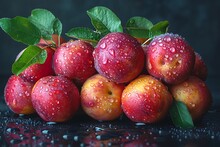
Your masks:
M 0 18 L 29 16 L 35 8 L 45 8 L 63 24 L 63 36 L 73 27 L 92 27 L 86 10 L 94 6 L 113 10 L 125 25 L 133 16 L 143 16 L 153 23 L 168 20 L 169 32 L 183 36 L 208 66 L 207 84 L 218 103 L 220 90 L 220 1 L 218 0 L 6 0 L 0 1 Z M 0 96 L 11 75 L 11 65 L 25 46 L 0 30 Z

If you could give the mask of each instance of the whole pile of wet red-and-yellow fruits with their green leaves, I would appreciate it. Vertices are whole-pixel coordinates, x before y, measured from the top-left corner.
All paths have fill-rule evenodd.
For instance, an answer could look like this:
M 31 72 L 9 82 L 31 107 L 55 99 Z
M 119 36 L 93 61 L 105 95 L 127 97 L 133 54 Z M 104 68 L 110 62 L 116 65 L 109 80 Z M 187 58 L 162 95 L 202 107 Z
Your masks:
M 64 41 L 57 18 L 51 21 L 54 31 L 39 27 L 44 23 L 36 20 L 43 13 L 51 14 L 37 9 L 27 18 L 40 32 L 33 44 L 8 29 L 8 24 L 19 24 L 18 18 L 0 19 L 7 34 L 29 45 L 18 55 L 15 74 L 5 87 L 5 101 L 13 112 L 36 112 L 54 122 L 70 120 L 80 107 L 99 121 L 125 114 L 134 122 L 155 123 L 169 114 L 175 125 L 187 127 L 211 106 L 203 59 L 183 37 L 167 33 L 167 21 L 153 25 L 132 17 L 123 32 L 111 10 L 94 7 L 87 14 L 96 30 L 73 28 L 66 35 L 76 39 Z M 28 66 L 25 61 L 30 61 Z

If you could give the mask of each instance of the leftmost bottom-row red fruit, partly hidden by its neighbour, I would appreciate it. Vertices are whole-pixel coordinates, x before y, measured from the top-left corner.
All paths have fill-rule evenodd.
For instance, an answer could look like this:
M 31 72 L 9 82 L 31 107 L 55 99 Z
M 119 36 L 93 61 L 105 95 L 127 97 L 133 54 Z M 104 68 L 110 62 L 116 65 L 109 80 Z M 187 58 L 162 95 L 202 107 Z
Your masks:
M 4 96 L 7 106 L 16 114 L 35 113 L 31 102 L 33 83 L 12 75 L 5 86 Z

